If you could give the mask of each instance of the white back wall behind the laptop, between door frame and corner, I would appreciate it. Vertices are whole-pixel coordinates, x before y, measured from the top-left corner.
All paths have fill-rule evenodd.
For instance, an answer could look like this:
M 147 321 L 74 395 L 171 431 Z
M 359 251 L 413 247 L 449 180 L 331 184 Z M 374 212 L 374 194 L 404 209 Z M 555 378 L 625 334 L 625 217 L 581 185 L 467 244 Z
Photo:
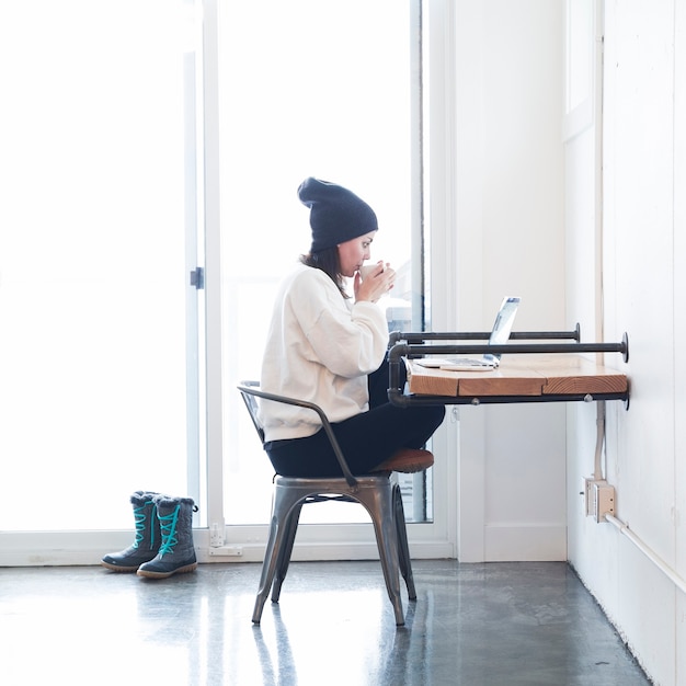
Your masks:
M 573 329 L 564 312 L 562 0 L 457 0 L 457 318 Z M 434 325 L 434 328 L 439 328 Z M 567 559 L 564 407 L 460 407 L 458 557 Z

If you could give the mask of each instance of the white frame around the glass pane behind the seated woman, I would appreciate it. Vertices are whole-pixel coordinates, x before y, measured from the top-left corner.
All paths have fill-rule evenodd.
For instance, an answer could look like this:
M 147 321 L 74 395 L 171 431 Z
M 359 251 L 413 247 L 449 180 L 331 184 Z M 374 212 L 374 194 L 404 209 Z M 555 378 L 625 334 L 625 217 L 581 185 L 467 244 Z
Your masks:
M 418 0 L 419 2 L 419 0 Z M 208 93 L 205 101 L 206 137 L 206 245 L 207 245 L 207 476 L 209 528 L 196 533 L 201 561 L 262 561 L 267 537 L 266 525 L 231 525 L 225 522 L 222 512 L 222 464 L 230 459 L 230 446 L 224 445 L 221 369 L 227 345 L 221 341 L 221 302 L 219 298 L 220 207 L 218 160 L 218 103 L 211 92 L 217 83 L 217 0 L 205 3 L 205 83 Z M 220 11 L 220 10 L 219 10 Z M 428 209 L 431 232 L 431 290 L 441 293 L 439 302 L 432 308 L 434 329 L 450 330 L 455 325 L 456 293 L 453 282 L 455 241 L 450 227 L 455 226 L 453 170 L 455 121 L 455 66 L 453 59 L 454 1 L 426 0 L 424 2 L 425 30 L 428 36 L 430 60 L 428 92 L 431 101 L 431 135 L 424 139 L 430 147 L 428 175 L 431 185 L 424 196 Z M 426 116 L 426 113 L 424 114 Z M 419 126 L 414 141 L 413 163 L 421 163 Z M 214 138 L 217 136 L 217 138 Z M 214 159 L 213 159 L 214 158 Z M 216 174 L 216 176 L 214 175 Z M 418 187 L 422 175 L 416 174 Z M 422 220 L 421 208 L 415 206 L 414 220 Z M 413 244 L 413 248 L 416 243 Z M 420 260 L 418 253 L 415 259 Z M 447 295 L 446 295 L 447 294 Z M 408 536 L 415 558 L 454 558 L 457 551 L 457 432 L 456 414 L 446 413 L 446 422 L 434 436 L 436 465 L 434 466 L 434 513 L 431 523 L 408 523 Z M 226 449 L 225 449 L 226 447 Z M 377 557 L 373 527 L 359 524 L 301 525 L 294 549 L 294 560 L 369 559 Z

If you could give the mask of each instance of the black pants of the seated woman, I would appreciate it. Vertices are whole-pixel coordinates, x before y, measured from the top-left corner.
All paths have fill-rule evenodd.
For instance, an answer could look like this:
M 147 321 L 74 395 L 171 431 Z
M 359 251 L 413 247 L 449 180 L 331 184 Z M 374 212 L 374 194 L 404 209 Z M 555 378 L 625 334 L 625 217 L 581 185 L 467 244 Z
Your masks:
M 384 362 L 369 375 L 368 387 L 369 411 L 332 424 L 333 433 L 354 475 L 369 473 L 401 448 L 421 448 L 445 416 L 443 405 L 392 405 L 387 392 L 388 362 Z M 323 430 L 307 438 L 267 443 L 265 449 L 276 473 L 284 477 L 342 475 Z

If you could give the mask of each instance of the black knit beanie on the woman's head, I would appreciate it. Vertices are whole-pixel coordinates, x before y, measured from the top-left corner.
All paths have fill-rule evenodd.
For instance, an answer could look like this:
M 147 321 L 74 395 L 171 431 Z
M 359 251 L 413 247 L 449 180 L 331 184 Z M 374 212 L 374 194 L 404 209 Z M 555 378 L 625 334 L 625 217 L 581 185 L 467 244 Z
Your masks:
M 379 228 L 371 207 L 335 183 L 310 176 L 300 184 L 298 197 L 310 208 L 310 252 L 333 248 Z

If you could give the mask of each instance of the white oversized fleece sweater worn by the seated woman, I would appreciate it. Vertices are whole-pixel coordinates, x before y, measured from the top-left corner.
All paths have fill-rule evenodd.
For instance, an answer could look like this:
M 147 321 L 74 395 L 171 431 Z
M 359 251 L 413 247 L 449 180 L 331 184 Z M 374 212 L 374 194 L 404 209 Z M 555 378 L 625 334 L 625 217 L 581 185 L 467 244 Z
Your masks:
M 282 283 L 262 363 L 262 389 L 320 405 L 331 422 L 368 410 L 367 375 L 388 346 L 374 302 L 345 299 L 321 270 L 299 264 Z M 304 408 L 262 401 L 265 441 L 311 436 L 321 423 Z

